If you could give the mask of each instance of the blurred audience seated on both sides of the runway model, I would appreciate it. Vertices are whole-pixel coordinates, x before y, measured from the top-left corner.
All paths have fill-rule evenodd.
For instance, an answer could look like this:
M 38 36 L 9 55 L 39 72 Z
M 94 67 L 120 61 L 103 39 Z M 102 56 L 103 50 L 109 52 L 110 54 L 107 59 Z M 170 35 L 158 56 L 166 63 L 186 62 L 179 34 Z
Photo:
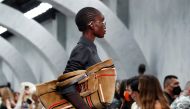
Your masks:
M 114 100 L 107 109 L 190 109 L 190 81 L 181 92 L 178 78 L 167 75 L 162 90 L 159 80 L 145 71 L 140 64 L 139 76 L 117 80 Z M 35 85 L 24 82 L 21 86 L 20 92 L 11 91 L 10 84 L 0 88 L 0 109 L 44 109 Z

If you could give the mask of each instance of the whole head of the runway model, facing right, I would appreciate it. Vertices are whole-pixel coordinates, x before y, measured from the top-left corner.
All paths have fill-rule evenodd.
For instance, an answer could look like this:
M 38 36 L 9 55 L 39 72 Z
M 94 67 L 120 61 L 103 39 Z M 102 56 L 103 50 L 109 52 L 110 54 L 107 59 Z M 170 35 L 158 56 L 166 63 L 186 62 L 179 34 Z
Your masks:
M 88 36 L 91 40 L 95 37 L 103 38 L 106 33 L 104 16 L 93 7 L 81 9 L 75 17 L 75 23 L 83 36 Z

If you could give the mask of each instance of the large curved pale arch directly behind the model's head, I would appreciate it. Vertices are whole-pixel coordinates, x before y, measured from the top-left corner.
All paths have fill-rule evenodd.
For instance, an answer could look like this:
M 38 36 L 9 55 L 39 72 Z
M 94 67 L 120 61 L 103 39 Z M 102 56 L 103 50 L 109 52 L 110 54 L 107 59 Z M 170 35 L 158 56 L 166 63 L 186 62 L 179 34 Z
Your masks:
M 134 37 L 125 25 L 99 0 L 41 0 L 53 5 L 54 8 L 67 16 L 74 16 L 79 9 L 92 6 L 99 9 L 106 18 L 107 34 L 104 41 L 98 41 L 110 57 L 115 58 L 121 73 L 134 73 L 139 63 L 146 63 L 143 53 Z M 80 4 L 80 5 L 79 5 Z M 106 43 L 106 44 L 104 44 Z M 124 45 L 126 44 L 126 45 Z M 104 46 L 107 45 L 107 46 Z M 126 66 L 124 66 L 126 65 Z M 121 70 L 124 69 L 124 70 Z M 119 71 L 119 72 L 120 72 Z M 123 75 L 122 75 L 123 76 Z M 119 77 L 123 78 L 123 77 Z

